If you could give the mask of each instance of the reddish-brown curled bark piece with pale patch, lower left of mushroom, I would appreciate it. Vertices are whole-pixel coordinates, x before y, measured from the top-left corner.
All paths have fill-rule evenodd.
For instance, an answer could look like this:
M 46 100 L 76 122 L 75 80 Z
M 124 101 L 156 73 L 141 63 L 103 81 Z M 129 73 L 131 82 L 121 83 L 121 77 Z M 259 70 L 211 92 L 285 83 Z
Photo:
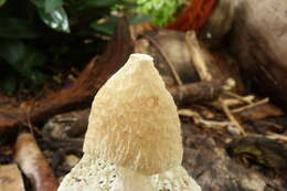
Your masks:
M 34 191 L 56 191 L 59 182 L 33 135 L 22 132 L 18 136 L 14 161 L 29 178 Z

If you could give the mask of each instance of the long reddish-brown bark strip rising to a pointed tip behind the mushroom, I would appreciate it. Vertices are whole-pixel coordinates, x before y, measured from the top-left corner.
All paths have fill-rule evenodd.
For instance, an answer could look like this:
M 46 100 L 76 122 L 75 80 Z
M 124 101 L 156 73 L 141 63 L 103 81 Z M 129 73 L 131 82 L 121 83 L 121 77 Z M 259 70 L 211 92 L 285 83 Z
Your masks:
M 26 108 L 0 108 L 0 135 L 19 125 L 42 121 L 55 114 L 87 106 L 96 91 L 115 73 L 134 52 L 128 23 L 120 20 L 115 36 L 103 56 L 94 57 L 70 88 L 32 102 Z

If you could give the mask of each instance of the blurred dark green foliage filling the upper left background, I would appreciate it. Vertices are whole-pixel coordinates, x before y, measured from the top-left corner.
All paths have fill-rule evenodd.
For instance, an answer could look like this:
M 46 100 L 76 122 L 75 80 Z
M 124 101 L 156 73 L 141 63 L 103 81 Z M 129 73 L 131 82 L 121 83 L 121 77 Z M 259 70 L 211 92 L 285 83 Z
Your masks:
M 31 94 L 47 79 L 64 85 L 105 50 L 120 15 L 162 26 L 181 7 L 179 0 L 0 0 L 0 89 Z

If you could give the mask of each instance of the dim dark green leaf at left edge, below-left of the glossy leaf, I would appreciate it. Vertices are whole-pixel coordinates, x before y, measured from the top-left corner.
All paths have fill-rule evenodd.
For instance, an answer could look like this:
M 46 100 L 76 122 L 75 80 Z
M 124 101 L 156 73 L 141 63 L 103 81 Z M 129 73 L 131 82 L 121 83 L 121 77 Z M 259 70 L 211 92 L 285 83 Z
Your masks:
M 39 33 L 32 24 L 18 18 L 0 18 L 0 38 L 33 39 Z

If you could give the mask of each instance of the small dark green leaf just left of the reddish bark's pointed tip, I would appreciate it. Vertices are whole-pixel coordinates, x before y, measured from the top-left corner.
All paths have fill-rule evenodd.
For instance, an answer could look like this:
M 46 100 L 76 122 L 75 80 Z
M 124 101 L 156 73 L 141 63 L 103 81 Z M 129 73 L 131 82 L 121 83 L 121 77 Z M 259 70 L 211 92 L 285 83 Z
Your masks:
M 110 18 L 107 22 L 105 23 L 98 23 L 94 22 L 91 24 L 91 28 L 94 29 L 96 32 L 99 32 L 105 35 L 113 35 L 116 24 L 117 24 L 118 18 Z

